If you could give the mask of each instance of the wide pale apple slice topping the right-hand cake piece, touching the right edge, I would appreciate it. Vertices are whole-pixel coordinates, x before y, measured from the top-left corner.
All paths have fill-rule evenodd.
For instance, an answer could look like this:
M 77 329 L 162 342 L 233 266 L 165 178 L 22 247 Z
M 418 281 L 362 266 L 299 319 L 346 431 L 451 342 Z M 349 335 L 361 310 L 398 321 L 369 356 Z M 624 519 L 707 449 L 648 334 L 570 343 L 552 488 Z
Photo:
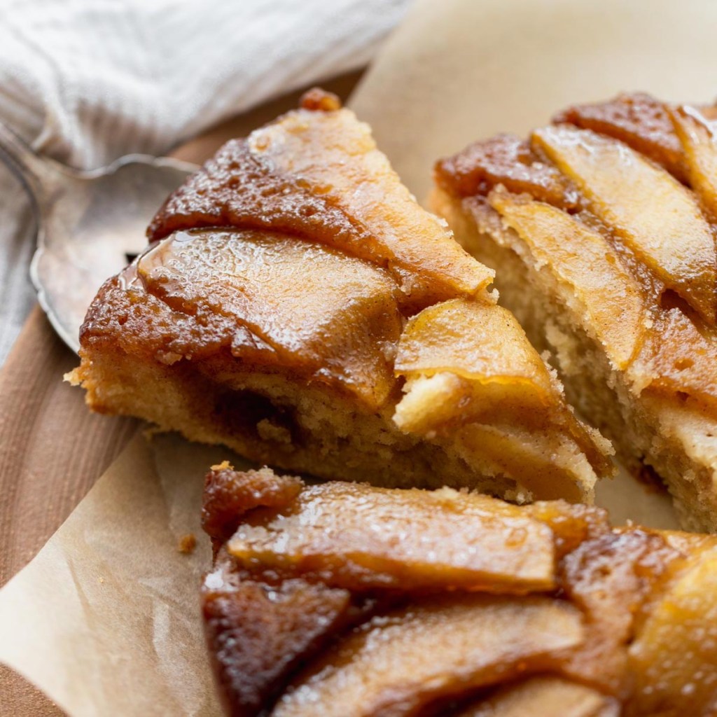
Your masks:
M 544 128 L 533 142 L 657 279 L 715 323 L 714 237 L 690 191 L 630 147 L 589 130 Z

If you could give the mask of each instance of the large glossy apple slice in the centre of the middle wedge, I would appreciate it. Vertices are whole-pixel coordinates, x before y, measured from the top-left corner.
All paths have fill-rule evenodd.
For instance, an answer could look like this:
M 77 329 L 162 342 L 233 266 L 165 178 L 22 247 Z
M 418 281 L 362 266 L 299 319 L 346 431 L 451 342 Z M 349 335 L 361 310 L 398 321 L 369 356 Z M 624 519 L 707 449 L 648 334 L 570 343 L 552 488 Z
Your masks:
M 214 327 L 249 363 L 333 382 L 371 407 L 394 384 L 381 347 L 401 333 L 397 290 L 366 262 L 273 232 L 196 230 L 164 239 L 137 272 L 148 293 Z

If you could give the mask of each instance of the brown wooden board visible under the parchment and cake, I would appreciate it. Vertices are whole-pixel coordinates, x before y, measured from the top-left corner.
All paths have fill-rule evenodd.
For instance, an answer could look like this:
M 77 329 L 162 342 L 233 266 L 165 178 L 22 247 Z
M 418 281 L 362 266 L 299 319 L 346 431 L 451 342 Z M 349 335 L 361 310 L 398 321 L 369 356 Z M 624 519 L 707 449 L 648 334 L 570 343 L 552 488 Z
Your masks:
M 345 99 L 360 75 L 323 86 Z M 227 139 L 294 107 L 300 94 L 219 125 L 172 156 L 200 163 Z M 0 370 L 0 587 L 32 560 L 139 428 L 134 419 L 90 414 L 82 391 L 62 382 L 76 365 L 36 307 Z M 58 716 L 57 706 L 0 665 L 0 717 Z

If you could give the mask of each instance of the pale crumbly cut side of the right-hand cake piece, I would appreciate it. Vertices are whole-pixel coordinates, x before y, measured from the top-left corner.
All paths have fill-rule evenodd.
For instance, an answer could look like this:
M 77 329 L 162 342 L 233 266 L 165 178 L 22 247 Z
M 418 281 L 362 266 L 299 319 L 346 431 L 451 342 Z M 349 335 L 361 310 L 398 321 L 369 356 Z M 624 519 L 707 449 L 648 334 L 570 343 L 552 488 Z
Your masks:
M 516 315 L 533 346 L 549 352 L 569 402 L 612 440 L 632 472 L 650 466 L 663 478 L 685 528 L 717 531 L 715 419 L 657 396 L 636 398 L 585 331 L 574 293 L 490 207 L 442 189 L 434 190 L 431 204 L 457 241 L 496 270 L 500 303 Z

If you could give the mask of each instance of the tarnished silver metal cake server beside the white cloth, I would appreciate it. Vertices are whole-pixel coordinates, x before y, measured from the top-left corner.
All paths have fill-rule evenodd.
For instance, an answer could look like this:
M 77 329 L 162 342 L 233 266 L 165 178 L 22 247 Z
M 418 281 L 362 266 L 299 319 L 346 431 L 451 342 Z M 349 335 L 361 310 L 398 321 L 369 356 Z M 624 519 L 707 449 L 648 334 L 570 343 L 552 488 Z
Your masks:
M 55 331 L 73 351 L 100 285 L 146 247 L 166 196 L 197 167 L 130 154 L 92 171 L 38 156 L 0 123 L 0 158 L 29 192 L 37 232 L 30 277 Z

